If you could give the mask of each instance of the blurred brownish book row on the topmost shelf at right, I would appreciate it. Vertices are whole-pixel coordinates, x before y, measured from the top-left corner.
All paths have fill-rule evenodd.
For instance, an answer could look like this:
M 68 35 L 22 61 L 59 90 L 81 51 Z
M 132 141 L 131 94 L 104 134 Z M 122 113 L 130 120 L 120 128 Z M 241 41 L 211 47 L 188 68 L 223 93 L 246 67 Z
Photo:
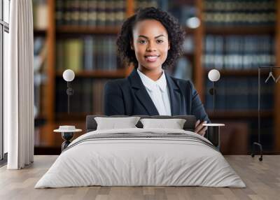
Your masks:
M 209 26 L 274 25 L 276 1 L 204 0 L 202 20 Z

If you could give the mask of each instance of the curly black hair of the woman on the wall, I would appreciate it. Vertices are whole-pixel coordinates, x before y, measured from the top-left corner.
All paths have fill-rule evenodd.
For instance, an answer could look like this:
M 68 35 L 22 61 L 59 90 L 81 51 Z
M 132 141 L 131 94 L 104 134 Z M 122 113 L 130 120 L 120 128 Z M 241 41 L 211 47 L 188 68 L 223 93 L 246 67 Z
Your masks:
M 181 25 L 175 17 L 159 8 L 149 7 L 138 10 L 138 12 L 123 22 L 123 27 L 118 34 L 117 45 L 118 55 L 125 62 L 132 62 L 134 67 L 138 67 L 138 61 L 134 50 L 131 49 L 131 41 L 133 41 L 132 30 L 137 22 L 142 20 L 158 20 L 167 29 L 170 49 L 167 59 L 162 64 L 162 69 L 173 66 L 176 59 L 182 54 L 182 45 L 185 37 Z

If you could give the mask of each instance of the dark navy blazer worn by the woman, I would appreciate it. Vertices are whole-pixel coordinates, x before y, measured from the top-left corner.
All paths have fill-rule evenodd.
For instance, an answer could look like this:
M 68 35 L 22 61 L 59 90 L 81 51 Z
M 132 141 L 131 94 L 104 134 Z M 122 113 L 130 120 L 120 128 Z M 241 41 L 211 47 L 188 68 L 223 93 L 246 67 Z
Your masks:
M 210 122 L 195 87 L 189 80 L 167 75 L 172 115 L 195 115 Z M 130 76 L 109 80 L 104 88 L 105 115 L 159 115 L 137 69 Z

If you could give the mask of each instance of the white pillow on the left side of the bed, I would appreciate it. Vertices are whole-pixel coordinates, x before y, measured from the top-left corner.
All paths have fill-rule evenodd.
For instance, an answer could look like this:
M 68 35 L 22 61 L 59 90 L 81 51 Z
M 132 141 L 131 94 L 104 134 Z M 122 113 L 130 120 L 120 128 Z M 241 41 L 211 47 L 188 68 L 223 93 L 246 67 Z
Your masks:
M 97 130 L 137 128 L 135 125 L 139 119 L 140 117 L 94 117 Z

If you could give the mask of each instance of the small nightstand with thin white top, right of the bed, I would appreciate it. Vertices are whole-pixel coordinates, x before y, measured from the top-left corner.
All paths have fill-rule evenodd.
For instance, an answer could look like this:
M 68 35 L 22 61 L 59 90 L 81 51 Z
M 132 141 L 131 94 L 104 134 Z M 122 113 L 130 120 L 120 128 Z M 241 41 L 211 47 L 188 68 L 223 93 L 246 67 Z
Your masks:
M 207 129 L 207 139 L 213 143 L 213 145 L 220 150 L 221 148 L 221 136 L 220 127 L 224 127 L 225 124 L 202 124 Z

